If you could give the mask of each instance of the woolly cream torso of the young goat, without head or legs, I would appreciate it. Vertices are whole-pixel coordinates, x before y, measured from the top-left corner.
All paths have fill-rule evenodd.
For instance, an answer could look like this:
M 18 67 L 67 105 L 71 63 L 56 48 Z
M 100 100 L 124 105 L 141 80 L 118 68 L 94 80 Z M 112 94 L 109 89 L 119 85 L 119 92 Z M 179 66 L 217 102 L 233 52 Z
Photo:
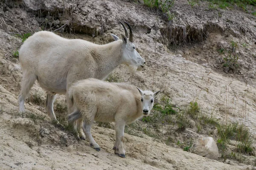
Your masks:
M 134 85 L 110 83 L 99 79 L 84 79 L 76 82 L 69 91 L 69 97 L 82 112 L 90 114 L 91 108 L 97 110 L 96 121 L 112 122 L 116 113 L 133 117 L 137 114 L 140 93 Z M 137 118 L 136 118 L 137 119 Z

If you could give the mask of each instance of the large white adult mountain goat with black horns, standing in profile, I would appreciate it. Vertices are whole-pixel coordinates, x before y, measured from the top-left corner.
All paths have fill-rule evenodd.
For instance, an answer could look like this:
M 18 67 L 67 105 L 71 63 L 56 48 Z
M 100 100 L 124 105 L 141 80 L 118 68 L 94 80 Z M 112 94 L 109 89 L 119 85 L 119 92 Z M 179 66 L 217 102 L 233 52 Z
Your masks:
M 121 23 L 121 22 L 120 22 Z M 122 23 L 121 23 L 122 24 Z M 97 45 L 80 39 L 65 39 L 49 31 L 39 31 L 29 37 L 20 47 L 19 59 L 23 72 L 18 107 L 25 111 L 24 101 L 35 80 L 47 91 L 46 110 L 55 120 L 53 102 L 55 94 L 66 94 L 73 82 L 81 79 L 104 79 L 118 65 L 125 64 L 131 72 L 141 71 L 145 60 L 135 50 L 131 26 L 130 35 L 125 26 L 122 40 L 111 34 L 114 42 Z M 67 99 L 68 113 L 73 112 Z M 77 122 L 81 125 L 81 120 Z M 84 139 L 82 129 L 79 136 Z

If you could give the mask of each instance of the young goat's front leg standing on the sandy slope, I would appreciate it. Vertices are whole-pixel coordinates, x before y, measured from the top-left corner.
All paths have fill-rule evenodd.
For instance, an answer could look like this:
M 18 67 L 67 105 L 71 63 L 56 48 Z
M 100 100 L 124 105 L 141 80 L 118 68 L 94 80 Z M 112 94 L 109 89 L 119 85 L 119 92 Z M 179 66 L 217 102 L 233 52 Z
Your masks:
M 125 150 L 122 144 L 125 136 L 125 123 L 116 122 L 115 129 L 116 129 L 116 142 L 114 144 L 113 150 L 115 150 L 115 154 L 117 154 L 122 158 L 125 158 Z

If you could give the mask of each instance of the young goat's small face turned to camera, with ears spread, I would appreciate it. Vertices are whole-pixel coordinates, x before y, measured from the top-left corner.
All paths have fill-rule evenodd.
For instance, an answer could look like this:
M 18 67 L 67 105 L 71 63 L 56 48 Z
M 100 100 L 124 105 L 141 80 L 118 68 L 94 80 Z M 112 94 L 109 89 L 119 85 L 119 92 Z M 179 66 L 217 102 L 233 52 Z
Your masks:
M 136 87 L 137 88 L 137 87 Z M 143 115 L 149 115 L 151 109 L 154 106 L 154 98 L 161 91 L 152 92 L 152 91 L 142 91 L 140 88 L 137 88 L 141 95 L 141 102 L 143 105 L 142 113 Z

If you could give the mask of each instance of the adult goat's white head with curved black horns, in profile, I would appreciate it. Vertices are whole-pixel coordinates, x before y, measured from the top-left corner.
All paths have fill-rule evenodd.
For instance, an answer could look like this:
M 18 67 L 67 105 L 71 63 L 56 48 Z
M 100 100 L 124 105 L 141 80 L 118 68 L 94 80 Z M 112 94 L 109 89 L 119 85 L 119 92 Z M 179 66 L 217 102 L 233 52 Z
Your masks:
M 120 21 L 119 21 L 120 22 Z M 120 22 L 121 23 L 121 22 Z M 125 22 L 126 23 L 126 22 Z M 121 23 L 125 29 L 125 35 L 121 34 L 122 36 L 122 63 L 128 66 L 128 71 L 134 73 L 136 70 L 141 71 L 145 66 L 145 60 L 140 56 L 140 54 L 136 51 L 136 47 L 133 43 L 133 35 L 131 26 L 126 23 L 129 27 L 130 35 L 126 30 L 123 23 Z M 114 40 L 119 40 L 114 34 L 111 34 Z M 129 39 L 128 39 L 129 37 Z

